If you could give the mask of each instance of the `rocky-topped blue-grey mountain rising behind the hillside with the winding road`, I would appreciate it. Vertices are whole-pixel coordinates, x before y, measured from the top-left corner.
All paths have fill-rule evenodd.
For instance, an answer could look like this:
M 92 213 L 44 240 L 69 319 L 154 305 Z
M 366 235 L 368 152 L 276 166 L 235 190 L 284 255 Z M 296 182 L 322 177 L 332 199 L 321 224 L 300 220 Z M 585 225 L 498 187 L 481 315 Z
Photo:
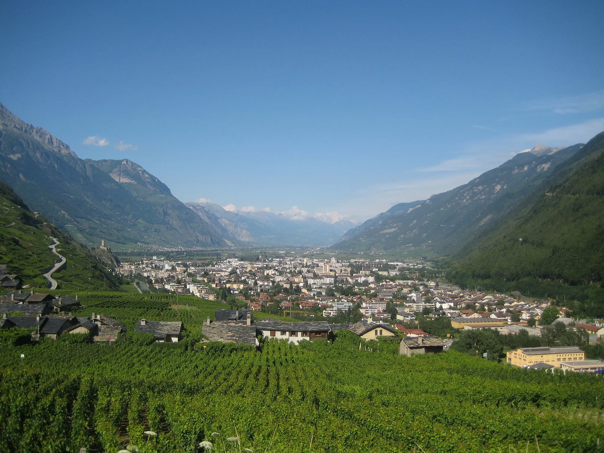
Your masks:
M 226 245 L 157 178 L 126 161 L 120 168 L 135 182 L 118 182 L 118 165 L 112 162 L 124 161 L 78 158 L 65 143 L 0 104 L 0 181 L 79 242 Z

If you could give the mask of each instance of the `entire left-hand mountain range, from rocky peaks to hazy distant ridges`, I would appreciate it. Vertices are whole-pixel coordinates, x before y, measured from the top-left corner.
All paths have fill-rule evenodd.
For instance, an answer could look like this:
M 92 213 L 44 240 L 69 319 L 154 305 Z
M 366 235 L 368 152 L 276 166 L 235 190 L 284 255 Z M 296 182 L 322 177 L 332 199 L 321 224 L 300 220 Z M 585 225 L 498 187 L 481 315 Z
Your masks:
M 129 159 L 80 159 L 0 104 L 0 181 L 80 243 L 111 246 L 330 245 L 352 222 L 183 204 Z

